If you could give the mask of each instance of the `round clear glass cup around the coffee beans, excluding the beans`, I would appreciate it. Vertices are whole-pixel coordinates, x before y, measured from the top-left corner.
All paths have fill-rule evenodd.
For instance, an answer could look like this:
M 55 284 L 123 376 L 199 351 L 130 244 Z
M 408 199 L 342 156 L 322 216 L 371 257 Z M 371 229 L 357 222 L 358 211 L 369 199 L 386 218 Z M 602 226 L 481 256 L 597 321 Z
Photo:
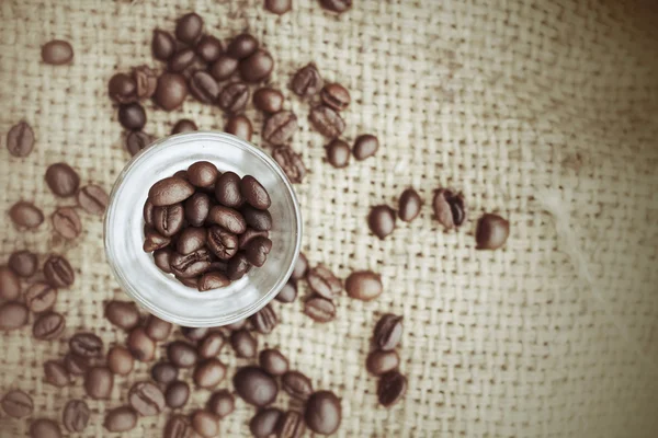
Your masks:
M 209 161 L 222 172 L 253 175 L 272 199 L 272 251 L 265 264 L 228 287 L 205 292 L 161 272 L 141 249 L 148 189 L 196 161 Z M 270 155 L 228 134 L 184 132 L 154 142 L 124 168 L 110 196 L 104 241 L 114 276 L 143 308 L 184 326 L 220 326 L 258 312 L 285 285 L 299 254 L 302 215 L 291 183 Z

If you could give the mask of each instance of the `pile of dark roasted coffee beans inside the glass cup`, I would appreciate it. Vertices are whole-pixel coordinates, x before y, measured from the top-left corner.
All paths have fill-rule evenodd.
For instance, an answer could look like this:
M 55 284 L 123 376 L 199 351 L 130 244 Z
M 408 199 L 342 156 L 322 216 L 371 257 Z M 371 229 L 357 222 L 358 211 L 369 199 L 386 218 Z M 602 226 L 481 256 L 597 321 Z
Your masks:
M 185 286 L 202 292 L 226 287 L 268 260 L 270 205 L 253 176 L 197 161 L 149 189 L 144 251 Z

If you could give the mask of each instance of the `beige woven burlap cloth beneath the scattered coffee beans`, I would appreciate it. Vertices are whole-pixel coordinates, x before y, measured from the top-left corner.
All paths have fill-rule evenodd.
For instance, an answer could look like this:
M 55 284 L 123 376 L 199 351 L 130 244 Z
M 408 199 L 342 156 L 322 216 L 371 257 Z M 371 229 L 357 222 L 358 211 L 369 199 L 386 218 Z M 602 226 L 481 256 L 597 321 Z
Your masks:
M 651 1 L 355 0 L 340 16 L 317 1 L 294 0 L 276 16 L 262 1 L 18 1 L 0 2 L 0 184 L 2 209 L 34 200 L 46 215 L 56 199 L 44 182 L 48 164 L 67 161 L 84 183 L 110 191 L 128 161 L 115 110 L 106 96 L 117 70 L 147 64 L 154 27 L 195 10 L 206 30 L 229 37 L 249 28 L 277 60 L 282 89 L 314 60 L 345 84 L 353 103 L 345 138 L 374 132 L 373 159 L 334 170 L 325 140 L 309 129 L 308 107 L 285 91 L 299 115 L 294 148 L 310 175 L 298 185 L 304 249 L 345 277 L 371 268 L 385 293 L 363 303 L 338 300 L 337 320 L 314 324 L 302 302 L 276 306 L 283 323 L 261 345 L 279 346 L 315 388 L 342 397 L 342 437 L 649 437 L 658 434 L 658 14 Z M 175 5 L 174 3 L 180 3 Z M 52 38 L 72 43 L 71 66 L 41 62 Z M 222 129 L 216 107 L 189 99 L 181 111 L 146 105 L 146 130 L 164 136 L 192 117 Z M 254 142 L 261 115 L 253 110 Z M 4 135 L 20 119 L 35 129 L 26 159 L 11 157 Z M 368 207 L 395 205 L 413 186 L 426 199 L 419 219 L 378 241 Z M 432 220 L 432 191 L 465 193 L 468 222 L 444 232 Z M 511 221 L 507 245 L 478 252 L 476 218 L 500 211 Z M 103 302 L 126 299 L 102 251 L 102 223 L 82 214 L 83 234 L 54 237 L 49 222 L 19 232 L 0 215 L 0 263 L 27 247 L 64 253 L 77 280 L 56 309 L 67 330 L 36 342 L 31 328 L 0 337 L 0 393 L 34 394 L 33 417 L 60 418 L 83 396 L 81 380 L 63 390 L 43 381 L 42 364 L 64 355 L 78 330 L 106 346 L 125 334 L 103 318 Z M 43 258 L 42 258 L 43 261 Z M 302 290 L 302 295 L 305 290 Z M 384 312 L 405 316 L 401 370 L 405 400 L 376 403 L 376 379 L 364 370 L 368 338 Z M 162 351 L 159 353 L 162 355 Z M 222 359 L 245 364 L 225 349 Z M 83 436 L 109 436 L 105 412 L 125 402 L 147 376 L 145 364 L 115 380 L 112 399 L 89 401 Z M 229 387 L 227 379 L 223 387 Z M 197 391 L 184 413 L 201 406 Z M 287 407 L 281 395 L 277 406 Z M 222 436 L 248 435 L 253 411 L 241 401 L 222 422 Z M 24 436 L 29 419 L 1 414 L 2 437 Z M 168 415 L 141 418 L 129 437 L 157 437 Z

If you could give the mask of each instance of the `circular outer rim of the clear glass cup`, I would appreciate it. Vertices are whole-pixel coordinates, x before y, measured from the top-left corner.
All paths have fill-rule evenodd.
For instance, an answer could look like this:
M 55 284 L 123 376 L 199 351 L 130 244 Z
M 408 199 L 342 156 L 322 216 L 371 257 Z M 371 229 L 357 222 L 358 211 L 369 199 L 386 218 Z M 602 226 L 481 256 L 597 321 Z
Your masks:
M 295 217 L 295 221 L 296 221 L 294 254 L 293 254 L 291 264 L 287 267 L 287 269 L 282 273 L 282 275 L 279 277 L 279 279 L 276 280 L 274 286 L 268 291 L 268 293 L 263 295 L 258 300 L 256 300 L 253 303 L 241 309 L 239 312 L 236 312 L 232 315 L 225 316 L 217 321 L 206 320 L 201 323 L 198 321 L 194 321 L 191 318 L 171 314 L 170 312 L 162 311 L 159 307 L 155 306 L 152 301 L 145 299 L 138 292 L 138 288 L 136 288 L 127 279 L 127 276 L 125 275 L 125 273 L 123 272 L 121 266 L 116 263 L 116 258 L 113 255 L 113 243 L 110 240 L 110 232 L 109 232 L 109 230 L 112 226 L 112 222 L 113 222 L 112 219 L 115 216 L 114 211 L 116 210 L 116 208 L 114 208 L 115 204 L 117 203 L 117 197 L 115 195 L 118 191 L 121 191 L 123 183 L 126 180 L 126 176 L 129 175 L 131 172 L 136 166 L 138 166 L 141 162 L 148 160 L 149 157 L 157 153 L 159 148 L 164 147 L 164 146 L 172 146 L 171 145 L 172 140 L 174 142 L 178 142 L 177 140 L 186 140 L 189 137 L 190 137 L 190 140 L 192 140 L 192 139 L 195 139 L 195 140 L 209 139 L 209 140 L 219 140 L 219 141 L 224 141 L 224 142 L 229 142 L 229 143 L 231 143 L 231 146 L 247 150 L 248 152 L 252 153 L 258 159 L 264 161 L 277 174 L 277 176 L 283 181 L 283 184 L 286 187 L 287 196 L 290 196 L 292 199 L 294 217 Z M 177 135 L 167 136 L 167 137 L 163 137 L 163 138 L 160 138 L 156 141 L 154 141 L 151 145 L 149 145 L 148 147 L 144 148 L 138 153 L 136 153 L 132 158 L 132 160 L 123 168 L 120 175 L 116 177 L 116 180 L 112 186 L 112 192 L 110 193 L 110 204 L 107 205 L 107 208 L 105 209 L 105 214 L 104 214 L 104 218 L 103 218 L 103 243 L 104 243 L 104 249 L 105 249 L 105 256 L 106 256 L 107 263 L 112 269 L 112 274 L 113 274 L 114 278 L 116 279 L 116 281 L 120 284 L 122 290 L 126 295 L 128 295 L 128 297 L 131 297 L 133 300 L 135 300 L 141 308 L 146 309 L 149 313 L 151 313 L 162 320 L 166 320 L 166 321 L 179 324 L 179 325 L 193 326 L 193 327 L 213 327 L 213 326 L 228 325 L 228 324 L 245 320 L 245 319 L 249 318 L 250 315 L 254 314 L 256 312 L 258 312 L 259 310 L 261 310 L 262 308 L 264 308 L 270 301 L 272 301 L 274 299 L 274 297 L 276 297 L 276 295 L 281 291 L 281 289 L 285 286 L 285 284 L 290 279 L 290 277 L 295 268 L 295 264 L 297 263 L 297 258 L 299 256 L 299 251 L 302 247 L 302 235 L 303 235 L 303 220 L 302 220 L 302 211 L 299 208 L 299 203 L 298 203 L 298 199 L 297 199 L 297 196 L 295 194 L 292 183 L 285 175 L 285 172 L 279 165 L 279 163 L 272 157 L 270 157 L 268 153 L 265 153 L 260 148 L 256 147 L 254 145 L 250 143 L 247 140 L 243 140 L 239 137 L 236 137 L 236 136 L 227 134 L 227 132 L 219 132 L 219 131 L 212 131 L 212 130 L 197 130 L 197 131 L 181 132 L 181 134 L 177 134 Z M 174 281 L 173 279 L 170 279 L 170 280 Z

